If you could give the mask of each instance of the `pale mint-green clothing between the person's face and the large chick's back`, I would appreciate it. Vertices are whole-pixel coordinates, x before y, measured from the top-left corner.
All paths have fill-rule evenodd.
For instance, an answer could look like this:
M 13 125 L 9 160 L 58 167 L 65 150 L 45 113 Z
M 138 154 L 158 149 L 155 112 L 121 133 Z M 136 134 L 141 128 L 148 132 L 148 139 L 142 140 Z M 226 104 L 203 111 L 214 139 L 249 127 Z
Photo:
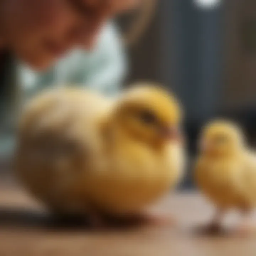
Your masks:
M 94 50 L 73 50 L 45 72 L 18 66 L 20 88 L 25 98 L 50 86 L 81 85 L 104 94 L 115 94 L 127 74 L 126 52 L 114 22 L 101 30 Z

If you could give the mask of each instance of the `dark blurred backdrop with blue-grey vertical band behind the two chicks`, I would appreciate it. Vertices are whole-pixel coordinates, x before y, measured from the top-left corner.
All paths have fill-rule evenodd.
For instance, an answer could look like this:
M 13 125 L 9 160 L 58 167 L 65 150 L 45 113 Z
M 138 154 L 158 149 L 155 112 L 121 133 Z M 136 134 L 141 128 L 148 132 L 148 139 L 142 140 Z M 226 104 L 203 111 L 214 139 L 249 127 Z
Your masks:
M 198 132 L 213 117 L 240 122 L 255 146 L 256 1 L 156 1 L 128 53 L 127 81 L 160 81 L 180 97 L 192 159 Z M 192 185 L 188 170 L 183 187 Z

